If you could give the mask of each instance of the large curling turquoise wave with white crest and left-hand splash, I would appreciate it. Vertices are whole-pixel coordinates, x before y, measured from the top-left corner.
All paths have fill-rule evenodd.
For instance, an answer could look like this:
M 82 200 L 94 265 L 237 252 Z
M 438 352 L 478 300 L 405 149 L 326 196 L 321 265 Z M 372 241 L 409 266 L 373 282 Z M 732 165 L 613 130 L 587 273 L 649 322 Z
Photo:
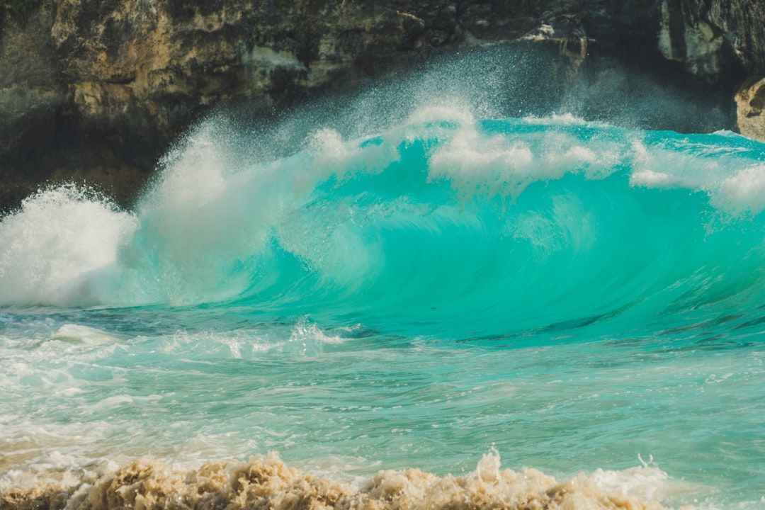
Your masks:
M 765 145 L 730 132 L 425 109 L 245 166 L 228 135 L 200 125 L 133 211 L 72 186 L 29 198 L 0 224 L 0 303 L 243 307 L 457 336 L 760 320 Z

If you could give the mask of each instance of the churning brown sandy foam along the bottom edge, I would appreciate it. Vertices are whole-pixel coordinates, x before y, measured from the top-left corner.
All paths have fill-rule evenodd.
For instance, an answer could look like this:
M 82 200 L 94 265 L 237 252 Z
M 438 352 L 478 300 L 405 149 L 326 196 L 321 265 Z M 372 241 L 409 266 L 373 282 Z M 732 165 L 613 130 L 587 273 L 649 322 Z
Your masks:
M 581 475 L 556 482 L 535 469 L 500 471 L 484 456 L 467 476 L 440 478 L 419 469 L 380 471 L 359 490 L 289 467 L 278 454 L 249 462 L 207 463 L 184 471 L 136 461 L 116 471 L 84 473 L 0 489 L 0 510 L 659 510 L 657 502 L 605 492 Z

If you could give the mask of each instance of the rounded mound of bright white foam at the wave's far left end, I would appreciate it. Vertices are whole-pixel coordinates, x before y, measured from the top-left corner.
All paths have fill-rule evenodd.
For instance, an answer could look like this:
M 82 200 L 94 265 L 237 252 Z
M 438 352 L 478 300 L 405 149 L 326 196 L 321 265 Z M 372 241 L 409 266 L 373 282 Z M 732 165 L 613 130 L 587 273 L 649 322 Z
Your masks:
M 119 248 L 136 227 L 135 216 L 90 190 L 34 194 L 0 222 L 0 304 L 112 299 Z

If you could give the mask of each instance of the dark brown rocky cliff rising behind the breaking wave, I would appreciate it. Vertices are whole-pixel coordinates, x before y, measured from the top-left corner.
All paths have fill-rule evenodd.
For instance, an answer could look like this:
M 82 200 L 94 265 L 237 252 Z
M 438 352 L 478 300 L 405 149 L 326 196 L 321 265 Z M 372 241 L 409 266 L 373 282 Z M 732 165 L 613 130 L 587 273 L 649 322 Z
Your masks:
M 763 20 L 760 0 L 3 0 L 0 207 L 61 180 L 127 202 L 211 108 L 265 115 L 485 45 L 544 48 L 556 80 L 620 60 L 731 109 L 741 87 L 739 125 L 762 136 Z

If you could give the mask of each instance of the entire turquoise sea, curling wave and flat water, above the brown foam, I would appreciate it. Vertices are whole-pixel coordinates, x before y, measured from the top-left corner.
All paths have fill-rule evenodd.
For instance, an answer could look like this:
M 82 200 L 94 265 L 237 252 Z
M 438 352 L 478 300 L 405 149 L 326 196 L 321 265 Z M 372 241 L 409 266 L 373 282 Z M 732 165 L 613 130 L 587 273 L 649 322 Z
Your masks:
M 763 505 L 765 145 L 446 106 L 269 158 L 232 129 L 197 126 L 132 210 L 65 186 L 2 219 L 6 485 L 269 450 L 443 476 L 496 450 Z

